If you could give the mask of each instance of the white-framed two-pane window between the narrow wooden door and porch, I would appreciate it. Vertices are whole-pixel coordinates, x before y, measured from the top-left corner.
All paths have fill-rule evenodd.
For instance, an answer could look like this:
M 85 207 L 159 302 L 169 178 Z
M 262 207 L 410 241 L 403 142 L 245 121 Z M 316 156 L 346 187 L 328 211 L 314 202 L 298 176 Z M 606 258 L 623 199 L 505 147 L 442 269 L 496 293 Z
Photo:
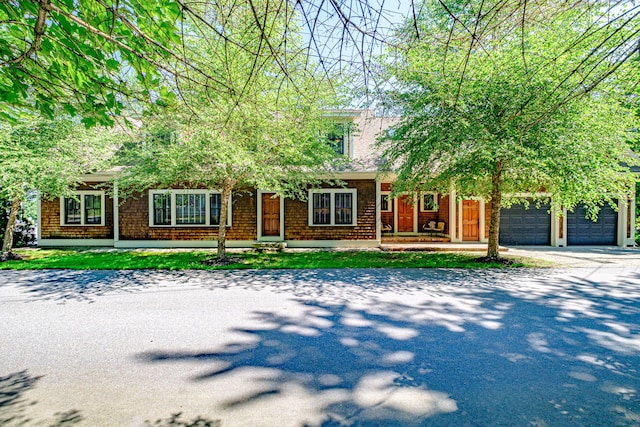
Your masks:
M 309 226 L 354 226 L 357 223 L 358 190 L 309 190 Z

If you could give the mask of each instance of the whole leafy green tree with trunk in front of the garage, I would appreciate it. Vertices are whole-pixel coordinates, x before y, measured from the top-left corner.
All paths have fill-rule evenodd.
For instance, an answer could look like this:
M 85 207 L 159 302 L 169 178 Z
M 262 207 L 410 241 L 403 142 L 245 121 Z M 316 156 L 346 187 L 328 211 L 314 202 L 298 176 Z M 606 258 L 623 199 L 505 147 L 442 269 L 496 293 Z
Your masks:
M 621 101 L 637 14 L 598 21 L 591 3 L 556 6 L 427 1 L 386 64 L 385 101 L 403 117 L 382 143 L 396 190 L 453 186 L 490 200 L 489 258 L 505 194 L 545 191 L 594 216 L 633 181 L 623 166 L 633 115 Z

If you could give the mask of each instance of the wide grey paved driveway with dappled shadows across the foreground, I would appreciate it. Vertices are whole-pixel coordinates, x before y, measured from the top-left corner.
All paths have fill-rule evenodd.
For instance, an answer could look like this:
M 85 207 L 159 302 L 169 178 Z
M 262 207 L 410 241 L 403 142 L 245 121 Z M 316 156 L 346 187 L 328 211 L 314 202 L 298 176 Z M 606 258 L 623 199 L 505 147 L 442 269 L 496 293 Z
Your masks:
M 3 426 L 640 425 L 636 266 L 0 272 L 0 322 Z

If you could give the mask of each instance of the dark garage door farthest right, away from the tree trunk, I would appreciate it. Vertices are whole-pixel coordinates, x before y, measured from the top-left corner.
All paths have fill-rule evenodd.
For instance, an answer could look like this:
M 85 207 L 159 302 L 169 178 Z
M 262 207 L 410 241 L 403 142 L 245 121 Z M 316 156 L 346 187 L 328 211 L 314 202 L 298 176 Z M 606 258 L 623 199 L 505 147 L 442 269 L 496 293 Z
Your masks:
M 587 210 L 577 207 L 567 212 L 568 245 L 616 245 L 618 235 L 618 212 L 606 205 L 600 209 L 596 222 L 585 218 Z

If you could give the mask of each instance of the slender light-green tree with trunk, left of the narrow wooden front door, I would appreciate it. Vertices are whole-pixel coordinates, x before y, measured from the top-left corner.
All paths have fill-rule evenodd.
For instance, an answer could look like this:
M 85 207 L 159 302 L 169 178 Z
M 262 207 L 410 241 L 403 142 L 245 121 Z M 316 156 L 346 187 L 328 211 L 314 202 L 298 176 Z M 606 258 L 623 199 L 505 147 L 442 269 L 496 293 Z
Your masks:
M 253 4 L 259 7 L 239 2 L 206 11 L 209 25 L 224 28 L 223 36 L 209 25 L 190 28 L 185 51 L 207 63 L 208 72 L 224 75 L 224 82 L 177 78 L 176 104 L 146 120 L 140 143 L 125 157 L 130 166 L 118 177 L 123 194 L 176 185 L 220 191 L 220 260 L 226 258 L 234 189 L 300 195 L 301 186 L 317 182 L 314 173 L 327 172 L 333 159 L 322 138 L 326 82 L 306 71 L 289 12 L 269 2 Z

